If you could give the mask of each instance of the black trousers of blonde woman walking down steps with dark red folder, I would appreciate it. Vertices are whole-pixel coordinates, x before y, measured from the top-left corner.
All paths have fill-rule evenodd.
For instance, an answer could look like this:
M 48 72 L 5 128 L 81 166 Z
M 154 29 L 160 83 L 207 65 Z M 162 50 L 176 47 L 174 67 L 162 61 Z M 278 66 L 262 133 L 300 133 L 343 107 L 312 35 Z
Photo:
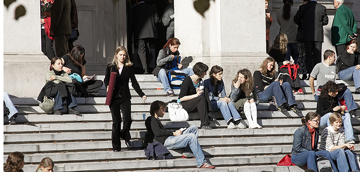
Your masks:
M 120 138 L 129 141 L 130 128 L 133 120 L 131 119 L 131 101 L 124 100 L 121 97 L 118 97 L 114 102 L 109 106 L 111 111 L 111 116 L 113 117 L 113 130 L 111 132 L 111 142 L 113 145 L 113 150 L 121 150 Z M 124 126 L 121 130 L 121 115 L 120 110 L 123 113 Z

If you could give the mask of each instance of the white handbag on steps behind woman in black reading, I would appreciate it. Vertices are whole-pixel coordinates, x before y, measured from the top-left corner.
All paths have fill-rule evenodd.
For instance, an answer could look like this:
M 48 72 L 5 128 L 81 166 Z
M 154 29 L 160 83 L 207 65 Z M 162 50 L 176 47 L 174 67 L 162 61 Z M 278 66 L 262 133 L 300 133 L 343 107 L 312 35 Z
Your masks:
M 169 103 L 168 111 L 170 121 L 187 121 L 189 119 L 189 115 L 180 103 Z

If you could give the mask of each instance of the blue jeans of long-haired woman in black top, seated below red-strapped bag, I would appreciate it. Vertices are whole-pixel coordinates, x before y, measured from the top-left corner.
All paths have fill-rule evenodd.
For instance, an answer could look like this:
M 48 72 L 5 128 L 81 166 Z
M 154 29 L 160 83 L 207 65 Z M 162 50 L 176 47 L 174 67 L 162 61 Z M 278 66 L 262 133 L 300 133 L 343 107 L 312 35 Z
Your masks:
M 271 83 L 266 89 L 259 93 L 260 100 L 262 101 L 268 101 L 268 99 L 274 95 L 276 99 L 276 103 L 278 106 L 281 106 L 282 104 L 286 103 L 285 95 L 288 98 L 288 104 L 289 106 L 295 105 L 295 98 L 293 95 L 293 90 L 291 89 L 291 86 L 288 82 L 284 82 L 283 85 L 280 85 L 279 81 L 274 81 Z

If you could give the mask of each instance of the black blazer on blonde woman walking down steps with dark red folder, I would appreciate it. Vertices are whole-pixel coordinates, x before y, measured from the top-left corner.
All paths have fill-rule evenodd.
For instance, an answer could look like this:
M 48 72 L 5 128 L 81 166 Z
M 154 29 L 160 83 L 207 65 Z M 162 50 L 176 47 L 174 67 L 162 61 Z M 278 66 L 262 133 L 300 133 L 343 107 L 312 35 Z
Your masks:
M 122 99 L 129 99 L 129 100 L 131 99 L 131 94 L 129 89 L 129 79 L 131 79 L 131 85 L 138 93 L 138 95 L 140 97 L 145 96 L 145 93 L 143 92 L 143 90 L 141 90 L 140 85 L 135 78 L 135 72 L 133 66 L 127 67 L 124 65 L 120 75 L 116 65 L 111 65 L 111 66 L 108 65 L 106 68 L 106 73 L 104 78 L 105 87 L 109 85 L 111 72 L 116 72 L 116 80 L 115 80 L 114 92 L 111 103 L 113 103 L 115 98 L 119 97 L 119 95 L 121 95 Z

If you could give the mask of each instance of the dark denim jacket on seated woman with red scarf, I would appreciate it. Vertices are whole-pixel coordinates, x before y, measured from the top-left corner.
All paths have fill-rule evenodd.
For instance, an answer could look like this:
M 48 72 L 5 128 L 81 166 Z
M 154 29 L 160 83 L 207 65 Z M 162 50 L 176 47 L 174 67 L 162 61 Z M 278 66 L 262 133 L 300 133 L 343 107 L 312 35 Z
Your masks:
M 306 151 L 318 151 L 319 128 L 315 128 L 314 150 L 311 149 L 311 134 L 307 125 L 301 126 L 294 133 L 293 149 L 291 154 L 299 154 Z

